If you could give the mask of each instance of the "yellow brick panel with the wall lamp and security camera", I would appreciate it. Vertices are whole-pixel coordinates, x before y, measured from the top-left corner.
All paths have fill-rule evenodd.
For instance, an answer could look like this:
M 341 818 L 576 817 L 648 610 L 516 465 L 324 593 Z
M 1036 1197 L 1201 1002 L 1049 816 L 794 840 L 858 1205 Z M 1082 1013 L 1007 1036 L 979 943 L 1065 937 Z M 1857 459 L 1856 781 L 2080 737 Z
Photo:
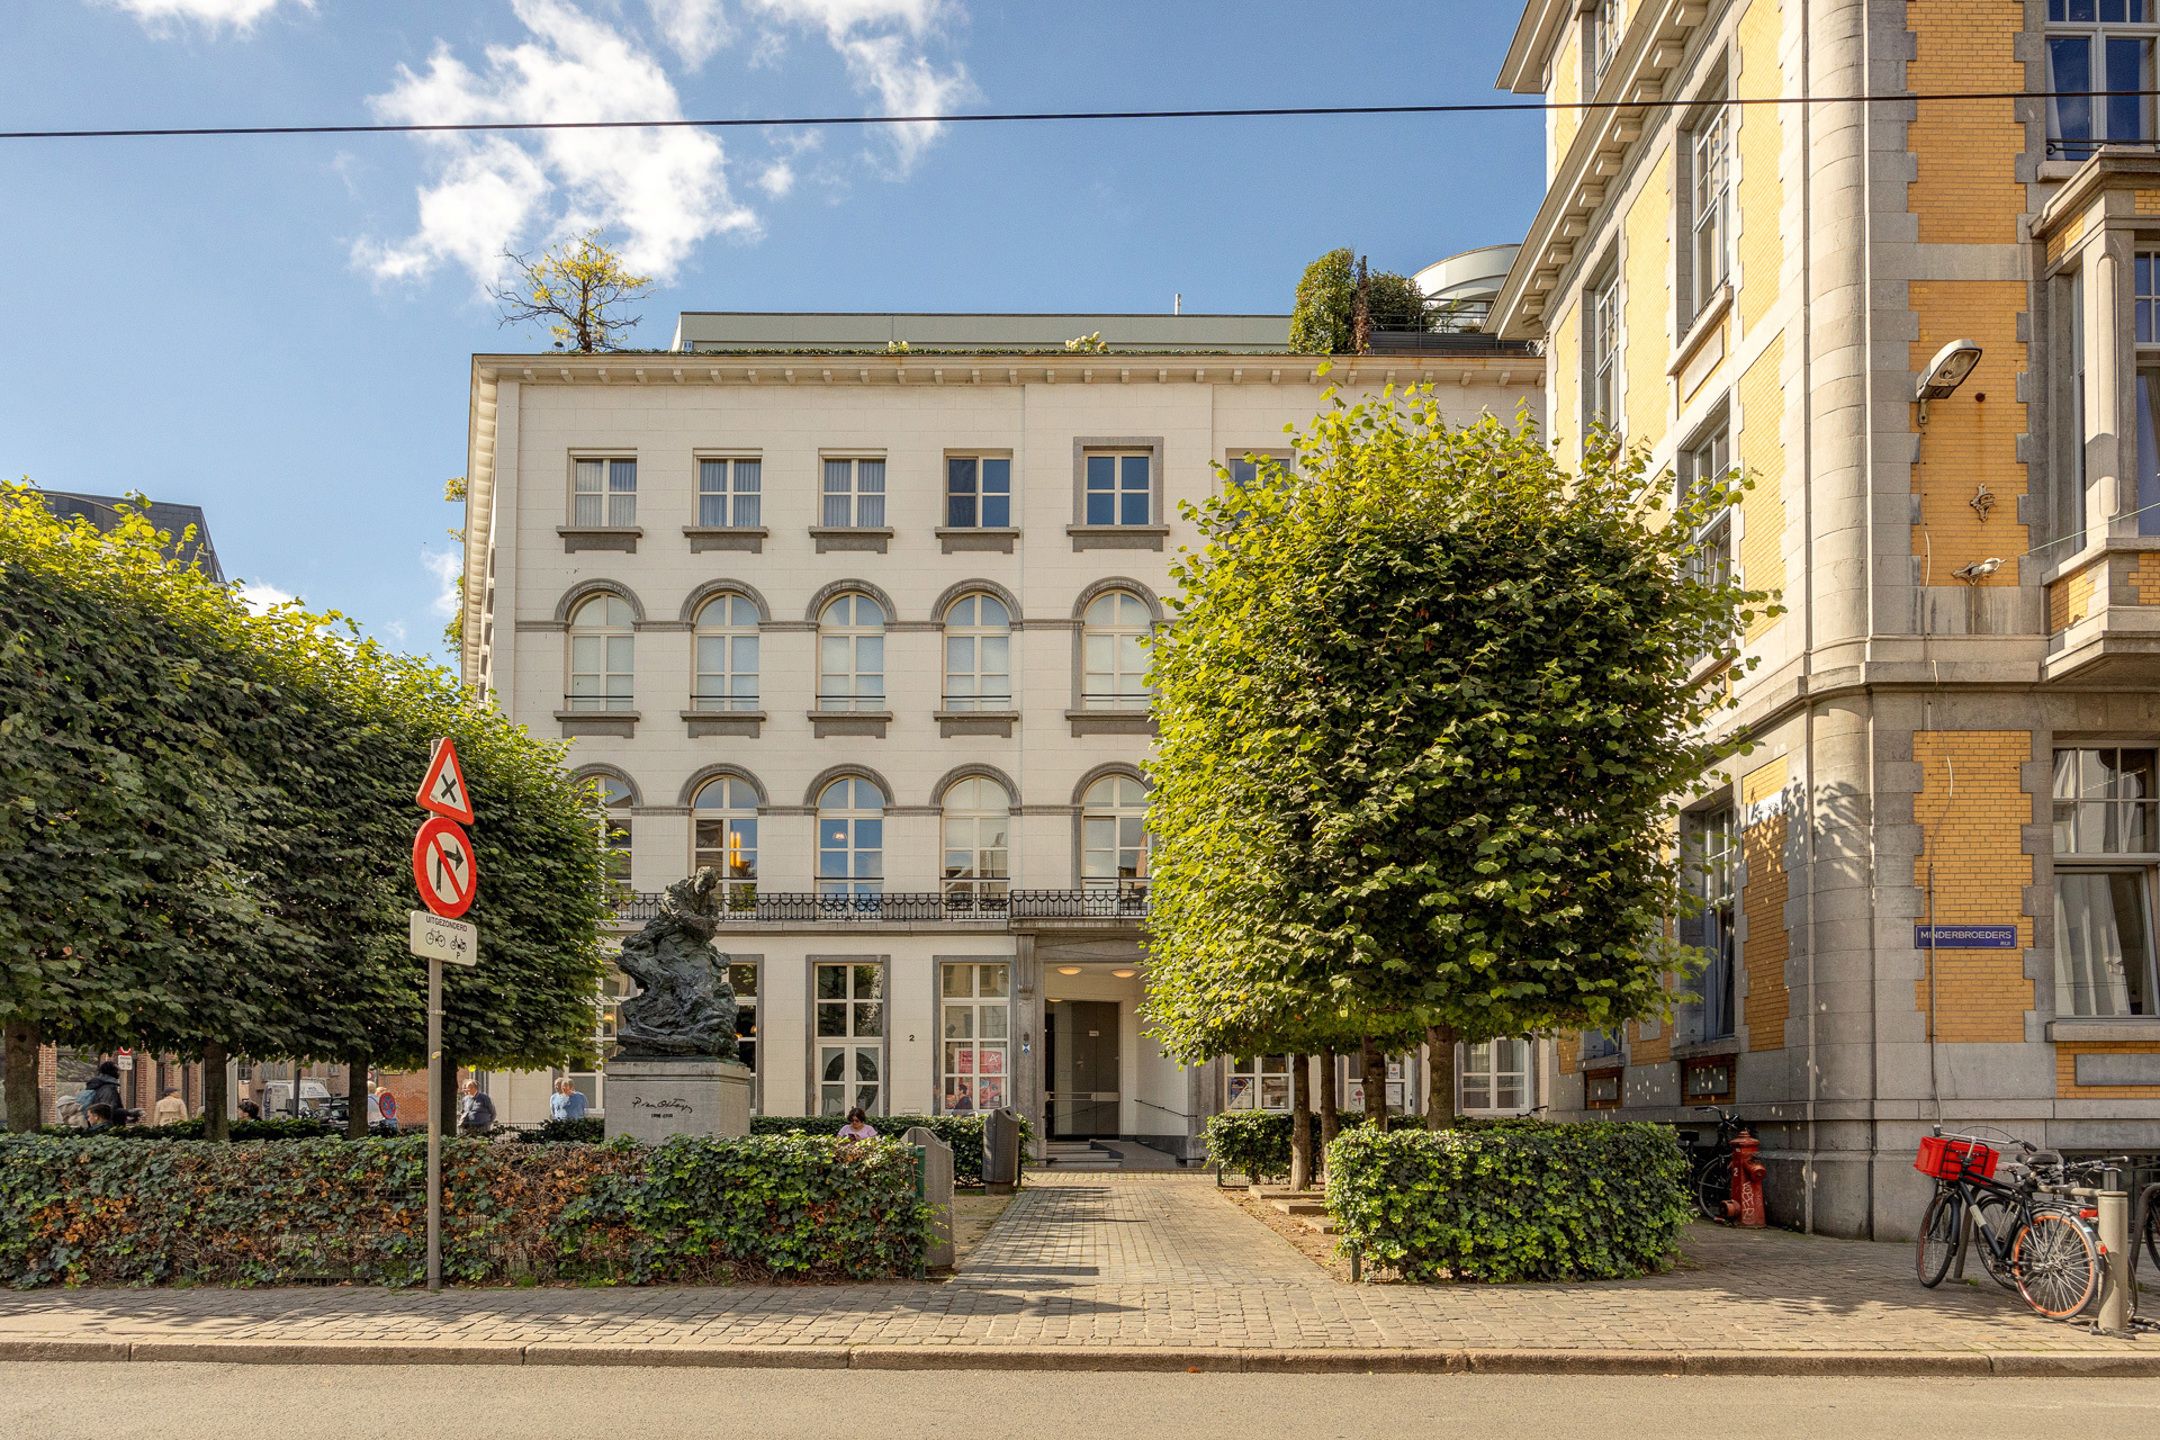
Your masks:
M 1920 525 L 1912 529 L 1912 553 L 1929 555 L 1933 542 L 1931 585 L 1955 585 L 1953 570 L 1987 557 L 2007 563 L 1981 583 L 2015 585 L 2017 557 L 2033 544 L 2017 525 L 2017 497 L 2026 492 L 2026 468 L 2017 460 L 2017 436 L 2026 430 L 2026 408 L 2017 399 L 2017 376 L 2026 369 L 2017 315 L 2026 309 L 2026 287 L 2022 281 L 1912 281 L 1907 296 L 1920 326 L 1909 348 L 1914 369 L 1925 369 L 1959 337 L 1979 341 L 1985 352 L 1957 395 L 1929 406 L 1914 466 Z M 1966 503 L 1981 481 L 1996 497 L 1987 520 Z

